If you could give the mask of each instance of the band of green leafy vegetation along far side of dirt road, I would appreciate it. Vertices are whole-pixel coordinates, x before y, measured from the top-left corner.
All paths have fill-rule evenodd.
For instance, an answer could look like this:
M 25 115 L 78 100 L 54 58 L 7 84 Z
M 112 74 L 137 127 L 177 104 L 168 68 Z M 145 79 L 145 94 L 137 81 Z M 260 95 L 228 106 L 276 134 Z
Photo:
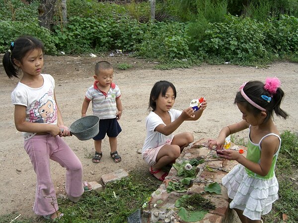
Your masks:
M 18 36 L 33 35 L 45 43 L 47 54 L 59 55 L 63 51 L 77 55 L 118 49 L 170 62 L 174 67 L 203 60 L 245 65 L 278 58 L 298 61 L 298 18 L 273 16 L 280 14 L 281 8 L 274 13 L 273 9 L 281 5 L 284 12 L 292 13 L 298 0 L 292 1 L 289 5 L 290 0 L 251 0 L 242 7 L 242 14 L 247 16 L 228 13 L 232 3 L 242 2 L 239 0 L 158 1 L 157 7 L 166 13 L 166 19 L 151 23 L 145 22 L 149 2 L 117 5 L 68 0 L 68 22 L 63 25 L 56 13 L 54 30 L 50 32 L 38 25 L 38 1 L 28 5 L 21 0 L 0 0 L 0 52 L 6 52 Z

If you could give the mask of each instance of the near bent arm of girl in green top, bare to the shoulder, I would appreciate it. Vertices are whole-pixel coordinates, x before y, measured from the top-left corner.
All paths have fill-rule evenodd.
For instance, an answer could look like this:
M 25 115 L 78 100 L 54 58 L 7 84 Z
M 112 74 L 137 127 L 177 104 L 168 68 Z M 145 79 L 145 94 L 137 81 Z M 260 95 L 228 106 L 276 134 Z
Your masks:
M 259 164 L 247 160 L 235 150 L 220 150 L 218 156 L 227 160 L 235 160 L 254 173 L 261 176 L 266 176 L 270 170 L 273 155 L 279 147 L 279 143 L 279 139 L 276 136 L 267 136 L 262 141 L 262 153 Z

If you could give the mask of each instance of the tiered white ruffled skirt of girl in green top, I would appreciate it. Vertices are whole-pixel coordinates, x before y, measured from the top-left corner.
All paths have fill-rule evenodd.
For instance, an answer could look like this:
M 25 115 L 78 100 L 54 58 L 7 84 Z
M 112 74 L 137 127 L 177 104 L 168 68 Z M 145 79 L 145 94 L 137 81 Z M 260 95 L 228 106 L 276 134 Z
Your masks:
M 232 199 L 229 207 L 242 210 L 251 220 L 261 220 L 261 215 L 268 214 L 278 199 L 278 181 L 275 175 L 265 180 L 250 177 L 244 168 L 238 164 L 222 179 Z

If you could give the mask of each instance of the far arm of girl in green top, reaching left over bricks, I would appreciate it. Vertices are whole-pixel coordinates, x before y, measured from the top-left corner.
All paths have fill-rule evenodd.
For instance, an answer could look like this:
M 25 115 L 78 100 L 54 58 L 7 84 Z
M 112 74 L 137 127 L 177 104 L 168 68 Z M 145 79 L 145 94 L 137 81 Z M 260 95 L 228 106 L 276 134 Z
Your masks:
M 225 126 L 221 131 L 217 139 L 209 139 L 208 145 L 209 148 L 212 149 L 213 146 L 216 146 L 217 149 L 223 149 L 225 137 L 230 134 L 242 131 L 249 127 L 249 124 L 242 120 L 240 122 Z

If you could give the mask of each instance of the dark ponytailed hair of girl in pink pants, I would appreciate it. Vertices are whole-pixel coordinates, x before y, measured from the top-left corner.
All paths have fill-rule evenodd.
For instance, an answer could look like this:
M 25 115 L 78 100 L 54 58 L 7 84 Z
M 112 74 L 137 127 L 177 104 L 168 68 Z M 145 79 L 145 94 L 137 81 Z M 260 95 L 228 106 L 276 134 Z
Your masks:
M 19 75 L 19 69 L 13 59 L 21 62 L 26 54 L 34 49 L 41 49 L 44 53 L 43 43 L 31 36 L 22 36 L 11 42 L 9 50 L 2 59 L 4 70 L 9 78 L 12 76 L 18 77 Z

